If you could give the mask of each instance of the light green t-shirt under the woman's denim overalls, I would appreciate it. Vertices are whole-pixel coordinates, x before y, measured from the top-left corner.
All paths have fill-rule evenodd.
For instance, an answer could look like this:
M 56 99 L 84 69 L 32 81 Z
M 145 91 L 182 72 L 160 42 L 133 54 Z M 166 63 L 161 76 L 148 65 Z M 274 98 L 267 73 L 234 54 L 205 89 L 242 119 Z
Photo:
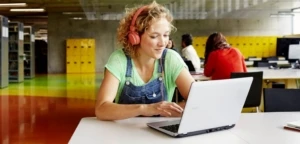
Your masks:
M 155 69 L 153 71 L 153 75 L 151 80 L 154 80 L 159 77 L 157 73 L 159 60 L 155 61 Z M 141 79 L 138 74 L 134 62 L 132 63 L 132 74 L 131 74 L 131 83 L 135 86 L 143 86 L 146 83 Z M 122 49 L 118 49 L 114 51 L 108 59 L 105 68 L 109 70 L 119 81 L 119 88 L 116 96 L 116 102 L 119 101 L 119 96 L 123 90 L 125 81 L 126 81 L 126 68 L 127 68 L 127 59 L 126 55 Z M 168 101 L 172 101 L 174 90 L 176 87 L 176 79 L 180 74 L 183 68 L 187 68 L 185 62 L 182 60 L 180 55 L 173 50 L 168 50 L 165 57 L 165 67 L 164 67 L 164 84 L 168 93 Z

